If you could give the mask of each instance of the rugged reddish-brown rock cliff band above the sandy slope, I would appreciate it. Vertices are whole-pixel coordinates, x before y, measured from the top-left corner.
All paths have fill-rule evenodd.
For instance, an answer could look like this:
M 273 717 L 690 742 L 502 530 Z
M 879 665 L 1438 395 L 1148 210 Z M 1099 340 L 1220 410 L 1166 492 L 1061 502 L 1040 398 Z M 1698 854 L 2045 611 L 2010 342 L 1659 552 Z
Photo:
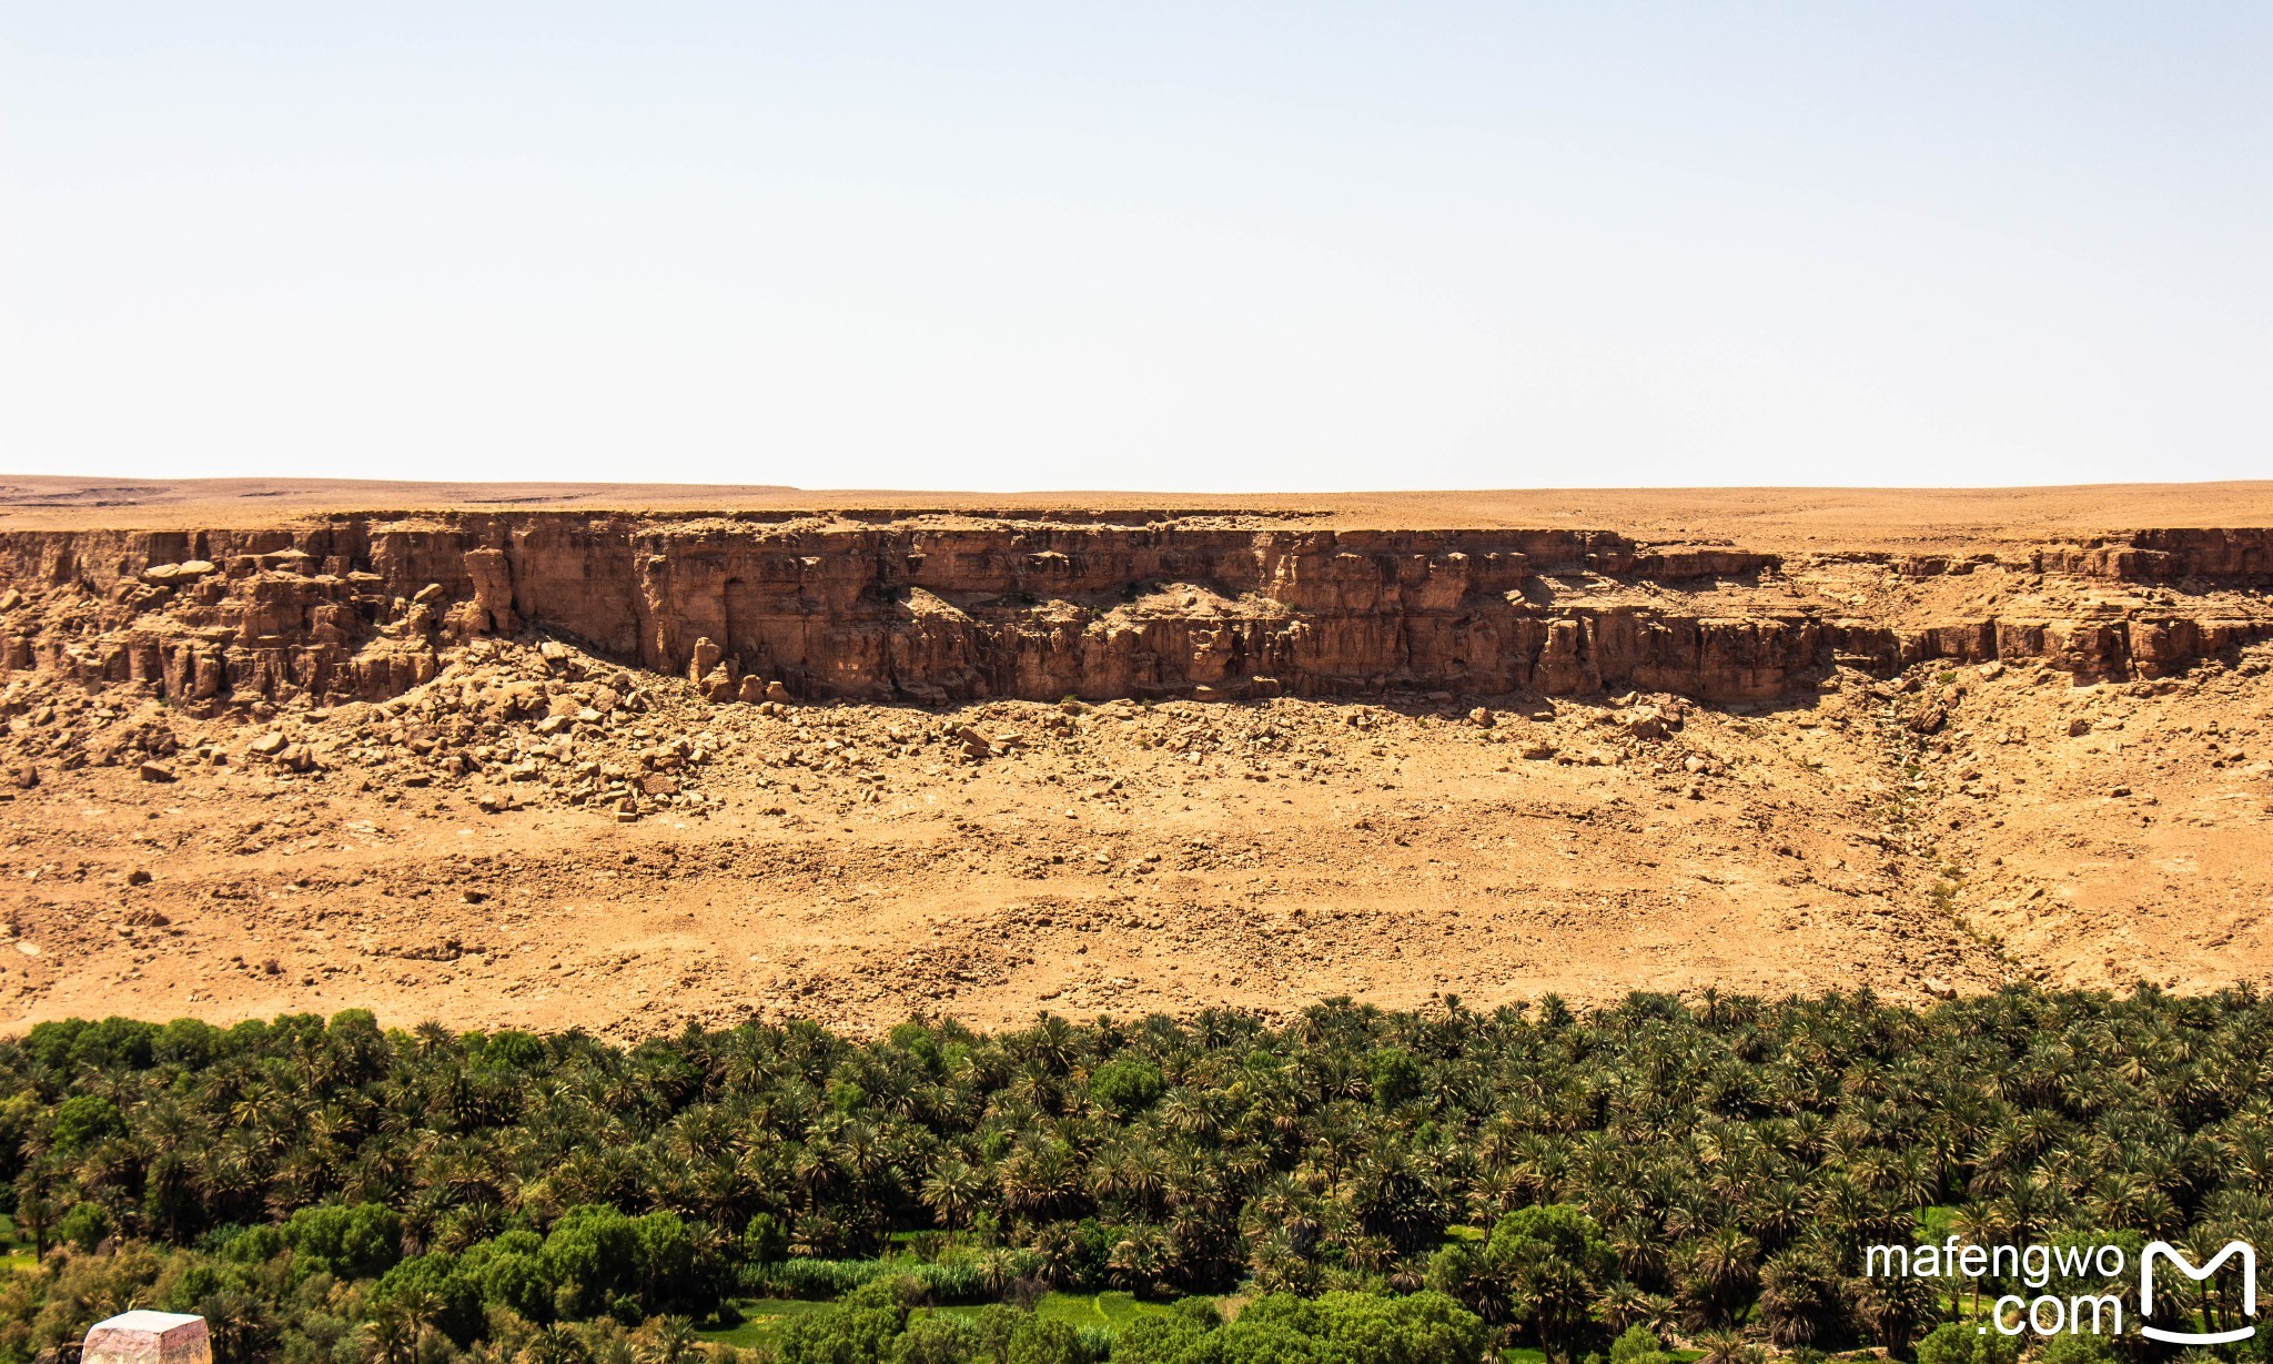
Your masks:
M 1852 564 L 1852 559 L 1848 559 Z M 2157 530 L 1989 568 L 2191 584 L 1893 621 L 1807 566 L 1587 530 L 468 514 L 0 534 L 0 668 L 189 705 L 396 696 L 439 650 L 559 634 L 718 700 L 1668 691 L 1766 700 L 1834 664 L 2041 659 L 2162 675 L 2273 632 L 2273 532 Z M 2171 596 L 2171 593 L 2164 593 Z

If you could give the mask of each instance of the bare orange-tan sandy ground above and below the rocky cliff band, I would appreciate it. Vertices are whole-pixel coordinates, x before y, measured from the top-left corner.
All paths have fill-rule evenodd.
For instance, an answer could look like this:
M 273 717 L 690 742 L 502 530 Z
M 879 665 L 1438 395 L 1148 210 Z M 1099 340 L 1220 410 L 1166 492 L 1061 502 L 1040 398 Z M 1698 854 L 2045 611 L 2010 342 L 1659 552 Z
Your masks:
M 211 521 L 236 500 L 320 496 L 368 507 L 391 491 L 114 491 L 143 498 L 123 516 L 70 505 L 57 480 L 5 482 L 45 505 L 0 525 Z M 664 493 L 607 500 L 650 496 Z M 1175 500 L 1200 502 L 1227 500 Z M 1275 500 L 1464 525 L 1539 523 L 1557 502 L 1591 525 L 1746 548 L 2273 521 L 2268 484 Z M 1825 562 L 1784 591 L 1909 587 Z M 2032 589 L 1980 573 L 1934 591 Z M 1925 998 L 2005 980 L 2273 975 L 2273 646 L 2155 682 L 1928 666 L 1841 671 L 1775 707 L 1493 698 L 1487 714 L 1446 696 L 709 705 L 680 680 L 552 655 L 482 641 L 396 702 L 250 727 L 18 677 L 0 707 L 11 762 L 59 734 L 118 746 L 152 721 L 182 752 L 168 784 L 132 762 L 34 764 L 39 784 L 0 805 L 0 932 L 14 939 L 0 1030 L 368 1007 L 405 1025 L 630 1037 L 752 1012 L 875 1030 L 918 1009 L 1002 1025 L 1321 996 Z M 496 698 L 516 687 L 568 702 L 500 718 L 511 707 Z M 268 732 L 316 771 L 264 762 Z M 455 780 L 452 755 L 475 748 L 518 780 Z M 582 764 L 677 802 L 636 823 L 571 805 Z

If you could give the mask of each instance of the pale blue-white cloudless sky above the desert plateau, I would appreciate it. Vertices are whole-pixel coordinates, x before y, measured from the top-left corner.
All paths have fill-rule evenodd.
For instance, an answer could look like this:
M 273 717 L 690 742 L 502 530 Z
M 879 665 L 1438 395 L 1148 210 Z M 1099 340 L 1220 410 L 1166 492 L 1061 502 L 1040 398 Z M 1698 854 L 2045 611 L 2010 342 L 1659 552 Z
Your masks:
M 0 0 L 0 471 L 2273 475 L 2266 5 Z

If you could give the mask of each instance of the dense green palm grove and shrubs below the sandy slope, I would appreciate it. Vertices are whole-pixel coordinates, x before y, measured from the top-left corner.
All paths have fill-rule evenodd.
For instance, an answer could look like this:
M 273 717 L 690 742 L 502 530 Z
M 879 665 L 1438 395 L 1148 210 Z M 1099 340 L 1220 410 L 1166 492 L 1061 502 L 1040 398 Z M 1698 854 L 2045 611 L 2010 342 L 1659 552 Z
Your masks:
M 48 1023 L 0 1043 L 0 1200 L 39 1257 L 0 1275 L 0 1364 L 123 1305 L 202 1312 L 227 1364 L 2003 1364 L 1928 1332 L 2016 1284 L 1866 1278 L 1862 1248 L 2273 1246 L 2268 1041 L 2250 991 L 636 1048 Z

